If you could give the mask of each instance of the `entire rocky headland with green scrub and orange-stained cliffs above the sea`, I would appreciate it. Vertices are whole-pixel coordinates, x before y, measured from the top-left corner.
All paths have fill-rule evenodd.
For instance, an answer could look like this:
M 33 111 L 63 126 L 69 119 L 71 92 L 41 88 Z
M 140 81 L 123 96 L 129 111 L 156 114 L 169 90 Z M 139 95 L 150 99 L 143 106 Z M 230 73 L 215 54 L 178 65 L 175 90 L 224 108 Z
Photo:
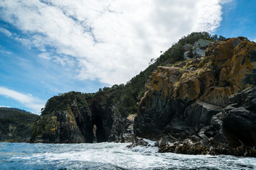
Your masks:
M 159 152 L 255 157 L 255 85 L 255 42 L 191 33 L 125 85 L 50 98 L 31 142 L 147 138 Z

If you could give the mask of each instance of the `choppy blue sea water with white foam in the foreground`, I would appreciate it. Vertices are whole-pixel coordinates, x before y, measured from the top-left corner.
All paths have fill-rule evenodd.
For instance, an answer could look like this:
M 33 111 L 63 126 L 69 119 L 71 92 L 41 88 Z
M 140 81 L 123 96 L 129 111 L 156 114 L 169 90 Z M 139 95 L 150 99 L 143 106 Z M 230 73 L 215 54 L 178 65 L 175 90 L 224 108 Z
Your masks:
M 0 169 L 256 169 L 250 157 L 158 153 L 124 143 L 0 143 Z

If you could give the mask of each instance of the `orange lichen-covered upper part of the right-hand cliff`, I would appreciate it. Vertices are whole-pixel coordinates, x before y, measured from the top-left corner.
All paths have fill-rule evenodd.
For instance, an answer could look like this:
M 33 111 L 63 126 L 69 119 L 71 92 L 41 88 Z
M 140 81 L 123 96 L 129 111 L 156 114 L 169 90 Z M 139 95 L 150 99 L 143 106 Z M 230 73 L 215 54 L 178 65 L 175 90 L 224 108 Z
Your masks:
M 210 44 L 203 58 L 158 67 L 152 74 L 149 91 L 165 98 L 226 106 L 228 96 L 256 83 L 255 70 L 255 42 L 229 38 Z

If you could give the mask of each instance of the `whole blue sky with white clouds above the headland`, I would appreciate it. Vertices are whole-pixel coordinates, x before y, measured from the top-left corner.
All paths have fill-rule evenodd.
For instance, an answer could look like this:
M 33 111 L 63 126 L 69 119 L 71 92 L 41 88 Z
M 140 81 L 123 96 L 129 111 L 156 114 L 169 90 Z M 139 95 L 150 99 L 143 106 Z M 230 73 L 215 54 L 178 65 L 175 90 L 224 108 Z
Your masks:
M 0 107 L 126 84 L 184 35 L 256 42 L 255 0 L 0 0 Z

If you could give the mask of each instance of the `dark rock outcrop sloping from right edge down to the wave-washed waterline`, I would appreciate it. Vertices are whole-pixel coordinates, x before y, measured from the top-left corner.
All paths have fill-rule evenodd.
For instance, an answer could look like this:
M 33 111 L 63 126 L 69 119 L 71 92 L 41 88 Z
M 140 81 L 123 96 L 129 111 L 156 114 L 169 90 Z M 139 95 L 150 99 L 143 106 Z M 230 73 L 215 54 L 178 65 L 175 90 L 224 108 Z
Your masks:
M 240 102 L 241 96 L 246 96 L 247 102 Z M 256 87 L 230 96 L 229 100 L 230 105 L 213 115 L 208 125 L 186 139 L 174 140 L 162 135 L 156 143 L 159 152 L 256 157 Z

